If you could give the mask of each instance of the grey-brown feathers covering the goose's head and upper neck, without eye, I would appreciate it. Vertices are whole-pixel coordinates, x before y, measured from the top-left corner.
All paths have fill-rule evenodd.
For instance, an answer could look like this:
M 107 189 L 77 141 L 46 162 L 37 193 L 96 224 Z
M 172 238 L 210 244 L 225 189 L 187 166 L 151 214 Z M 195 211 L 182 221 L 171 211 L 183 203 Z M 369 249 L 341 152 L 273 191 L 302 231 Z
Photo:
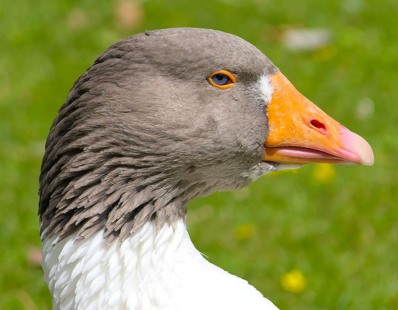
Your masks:
M 211 86 L 217 70 L 235 85 Z M 109 47 L 75 82 L 47 138 L 41 237 L 105 229 L 108 242 L 124 239 L 273 169 L 262 162 L 267 103 L 256 82 L 275 72 L 250 43 L 208 29 L 147 31 Z

